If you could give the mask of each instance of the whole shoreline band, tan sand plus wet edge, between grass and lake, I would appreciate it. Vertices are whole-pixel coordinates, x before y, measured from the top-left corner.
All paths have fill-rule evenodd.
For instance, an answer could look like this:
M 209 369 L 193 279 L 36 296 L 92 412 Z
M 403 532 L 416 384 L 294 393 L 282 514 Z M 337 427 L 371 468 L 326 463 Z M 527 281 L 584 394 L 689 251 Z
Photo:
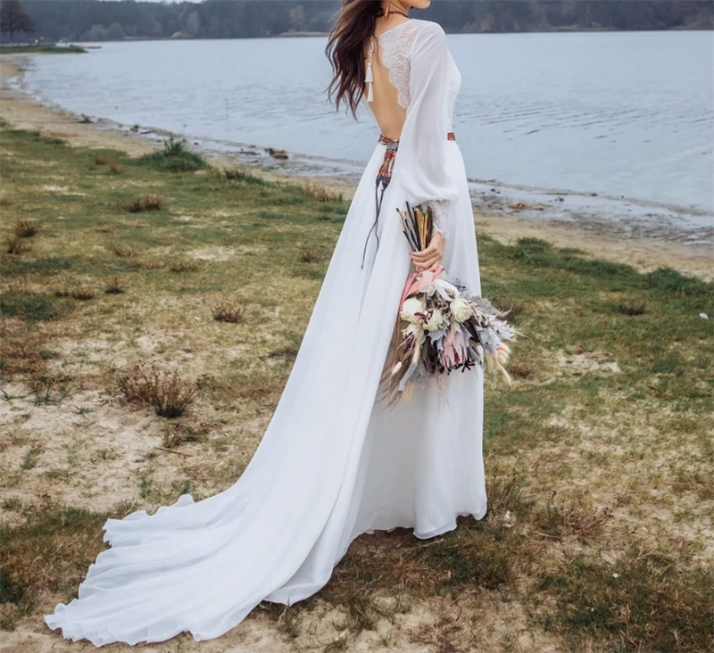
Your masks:
M 14 60 L 26 56 L 30 55 L 0 55 L 0 117 L 14 128 L 63 138 L 70 145 L 115 148 L 130 156 L 151 152 L 162 138 L 170 135 L 160 128 L 140 128 L 134 132 L 103 118 L 85 124 L 72 112 L 38 103 L 7 83 L 21 74 L 21 63 Z M 360 166 L 356 164 L 354 174 L 346 173 L 343 165 L 326 175 L 311 164 L 314 157 L 310 156 L 290 153 L 288 163 L 278 163 L 262 147 L 246 149 L 230 144 L 226 148 L 211 148 L 207 142 L 195 139 L 191 143 L 201 147 L 215 165 L 250 167 L 271 180 L 320 184 L 345 197 L 352 196 L 360 174 Z M 599 213 L 597 205 L 584 207 L 585 195 L 553 193 L 549 199 L 544 193 L 543 202 L 534 203 L 533 194 L 521 198 L 518 188 L 496 182 L 472 181 L 470 186 L 477 232 L 483 231 L 503 244 L 512 244 L 519 237 L 538 237 L 557 247 L 574 247 L 587 255 L 627 263 L 642 271 L 671 267 L 707 281 L 714 279 L 714 247 L 687 243 L 671 224 L 676 220 L 674 212 L 670 212 L 669 222 L 665 217 L 659 223 L 648 224 L 645 219 L 637 221 L 632 216 L 612 219 L 604 210 Z M 508 194 L 502 194 L 502 188 Z M 568 205 L 570 198 L 575 205 Z M 609 199 L 598 198 L 598 203 Z M 641 216 L 649 218 L 652 214 L 646 212 L 647 208 L 643 203 L 638 210 Z

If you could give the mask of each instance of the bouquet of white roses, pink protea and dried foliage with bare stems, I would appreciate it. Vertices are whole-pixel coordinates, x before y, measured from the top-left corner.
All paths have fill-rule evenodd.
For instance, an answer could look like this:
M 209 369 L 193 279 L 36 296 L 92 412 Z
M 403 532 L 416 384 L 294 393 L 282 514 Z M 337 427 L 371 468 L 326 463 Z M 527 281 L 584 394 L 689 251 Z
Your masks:
M 407 203 L 406 210 L 397 213 L 411 250 L 426 249 L 434 232 L 431 208 Z M 496 309 L 459 281 L 448 281 L 442 267 L 411 274 L 384 377 L 390 404 L 407 399 L 414 384 L 425 387 L 435 377 L 443 384 L 445 375 L 485 362 L 511 383 L 504 368 L 511 353 L 506 341 L 518 332 L 503 319 L 509 312 Z

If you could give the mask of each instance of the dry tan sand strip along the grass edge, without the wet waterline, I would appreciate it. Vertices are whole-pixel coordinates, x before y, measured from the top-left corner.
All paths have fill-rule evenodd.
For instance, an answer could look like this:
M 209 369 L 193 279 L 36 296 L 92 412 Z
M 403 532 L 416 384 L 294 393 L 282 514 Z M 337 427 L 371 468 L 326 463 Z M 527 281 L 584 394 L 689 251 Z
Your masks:
M 12 126 L 38 130 L 44 134 L 66 139 L 70 145 L 96 148 L 118 148 L 130 155 L 141 155 L 156 147 L 155 140 L 139 134 L 120 131 L 109 120 L 82 124 L 79 117 L 34 102 L 28 95 L 12 90 L 6 81 L 21 72 L 16 60 L 0 57 L 0 117 Z M 154 132 L 155 135 L 155 132 Z M 217 164 L 230 163 L 226 154 L 213 155 Z M 235 161 L 233 161 L 235 163 Z M 271 179 L 295 177 L 276 171 L 263 173 Z M 330 190 L 350 196 L 354 185 L 335 178 L 301 178 L 305 182 L 320 183 Z M 598 258 L 628 263 L 640 270 L 671 267 L 687 275 L 706 280 L 714 278 L 714 248 L 702 244 L 682 244 L 665 237 L 657 239 L 627 236 L 607 220 L 588 220 L 585 223 L 558 222 L 522 215 L 519 208 L 511 212 L 475 212 L 477 231 L 503 243 L 511 243 L 523 236 L 543 238 L 559 247 L 577 247 Z

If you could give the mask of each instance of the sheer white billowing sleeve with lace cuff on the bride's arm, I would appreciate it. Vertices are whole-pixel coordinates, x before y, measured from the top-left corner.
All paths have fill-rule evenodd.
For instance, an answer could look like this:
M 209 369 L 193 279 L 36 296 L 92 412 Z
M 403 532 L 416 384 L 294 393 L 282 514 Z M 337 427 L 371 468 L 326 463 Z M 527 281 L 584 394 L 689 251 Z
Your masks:
M 431 206 L 435 230 L 444 237 L 448 236 L 450 203 L 459 194 L 448 165 L 450 74 L 444 29 L 429 22 L 419 29 L 411 46 L 411 101 L 399 138 L 399 178 L 410 203 Z

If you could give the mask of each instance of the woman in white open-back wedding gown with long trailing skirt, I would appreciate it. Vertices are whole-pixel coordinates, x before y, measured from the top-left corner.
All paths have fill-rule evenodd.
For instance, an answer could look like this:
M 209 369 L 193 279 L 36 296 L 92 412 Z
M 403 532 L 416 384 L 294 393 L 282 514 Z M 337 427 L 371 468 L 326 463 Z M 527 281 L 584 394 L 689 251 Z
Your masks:
M 361 533 L 431 538 L 486 512 L 483 372 L 417 388 L 388 409 L 380 377 L 411 267 L 442 263 L 480 294 L 476 235 L 452 109 L 461 76 L 429 0 L 345 0 L 328 43 L 337 107 L 367 105 L 382 136 L 354 195 L 295 366 L 236 484 L 104 525 L 79 599 L 46 616 L 72 640 L 209 640 L 261 601 L 319 591 Z M 431 203 L 411 253 L 395 209 Z

